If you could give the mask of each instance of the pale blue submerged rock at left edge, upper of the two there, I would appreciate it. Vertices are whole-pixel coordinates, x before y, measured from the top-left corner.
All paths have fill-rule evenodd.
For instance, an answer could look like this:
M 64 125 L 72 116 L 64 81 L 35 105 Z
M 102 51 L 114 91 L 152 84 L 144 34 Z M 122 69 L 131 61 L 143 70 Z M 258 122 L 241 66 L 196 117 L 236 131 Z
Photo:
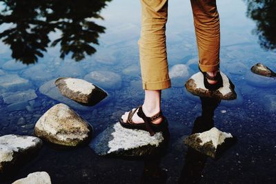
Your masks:
M 17 74 L 6 74 L 0 76 L 0 90 L 14 92 L 20 90 L 28 90 L 32 87 L 27 79 L 19 77 Z

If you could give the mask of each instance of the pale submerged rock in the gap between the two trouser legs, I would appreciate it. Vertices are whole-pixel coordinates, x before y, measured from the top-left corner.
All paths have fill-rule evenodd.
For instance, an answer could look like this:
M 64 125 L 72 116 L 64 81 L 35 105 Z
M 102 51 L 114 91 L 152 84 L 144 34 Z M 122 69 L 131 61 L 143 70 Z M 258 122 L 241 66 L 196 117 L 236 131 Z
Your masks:
M 183 86 L 190 73 L 188 70 L 190 70 L 188 65 L 183 64 L 173 65 L 172 68 L 170 68 L 169 75 L 172 81 L 172 87 Z

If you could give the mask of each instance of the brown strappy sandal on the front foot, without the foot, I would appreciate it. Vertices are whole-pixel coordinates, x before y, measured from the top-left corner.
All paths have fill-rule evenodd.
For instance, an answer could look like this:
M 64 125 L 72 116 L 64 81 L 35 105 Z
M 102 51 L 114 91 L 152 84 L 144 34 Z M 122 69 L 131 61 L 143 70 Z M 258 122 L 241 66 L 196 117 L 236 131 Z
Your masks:
M 143 119 L 145 123 L 133 123 L 132 116 L 135 114 L 137 110 L 138 110 L 137 115 L 141 119 Z M 161 123 L 159 124 L 152 123 L 152 121 L 155 121 L 160 118 L 163 118 Z M 167 119 L 165 116 L 163 116 L 161 111 L 151 117 L 148 117 L 143 112 L 141 105 L 133 111 L 130 110 L 130 112 L 128 113 L 128 119 L 126 122 L 124 122 L 123 119 L 119 119 L 119 122 L 121 123 L 122 127 L 126 127 L 129 129 L 146 130 L 150 133 L 150 136 L 153 136 L 155 132 L 162 132 L 168 126 Z

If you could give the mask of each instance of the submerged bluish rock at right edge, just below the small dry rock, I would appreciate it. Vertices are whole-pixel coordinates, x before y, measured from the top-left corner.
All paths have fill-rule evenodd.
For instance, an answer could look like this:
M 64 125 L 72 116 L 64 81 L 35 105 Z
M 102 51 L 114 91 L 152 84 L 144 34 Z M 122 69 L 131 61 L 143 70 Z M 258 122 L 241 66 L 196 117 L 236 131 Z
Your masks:
M 274 77 L 267 77 L 262 75 L 247 72 L 245 76 L 246 83 L 259 88 L 273 88 L 276 87 L 276 79 Z

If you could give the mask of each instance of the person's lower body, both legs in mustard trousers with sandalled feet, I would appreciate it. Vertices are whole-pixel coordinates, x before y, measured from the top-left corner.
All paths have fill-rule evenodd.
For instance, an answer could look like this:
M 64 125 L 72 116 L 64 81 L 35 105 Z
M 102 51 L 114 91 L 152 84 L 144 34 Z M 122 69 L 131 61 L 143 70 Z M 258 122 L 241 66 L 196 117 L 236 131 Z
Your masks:
M 161 114 L 161 90 L 170 88 L 166 52 L 166 22 L 168 0 L 141 1 L 141 37 L 139 58 L 145 90 L 143 105 L 121 116 L 126 128 L 148 130 L 151 135 L 161 130 L 166 118 Z M 209 90 L 222 86 L 219 73 L 219 13 L 216 1 L 190 0 L 193 9 L 195 34 L 199 54 L 199 70 Z

